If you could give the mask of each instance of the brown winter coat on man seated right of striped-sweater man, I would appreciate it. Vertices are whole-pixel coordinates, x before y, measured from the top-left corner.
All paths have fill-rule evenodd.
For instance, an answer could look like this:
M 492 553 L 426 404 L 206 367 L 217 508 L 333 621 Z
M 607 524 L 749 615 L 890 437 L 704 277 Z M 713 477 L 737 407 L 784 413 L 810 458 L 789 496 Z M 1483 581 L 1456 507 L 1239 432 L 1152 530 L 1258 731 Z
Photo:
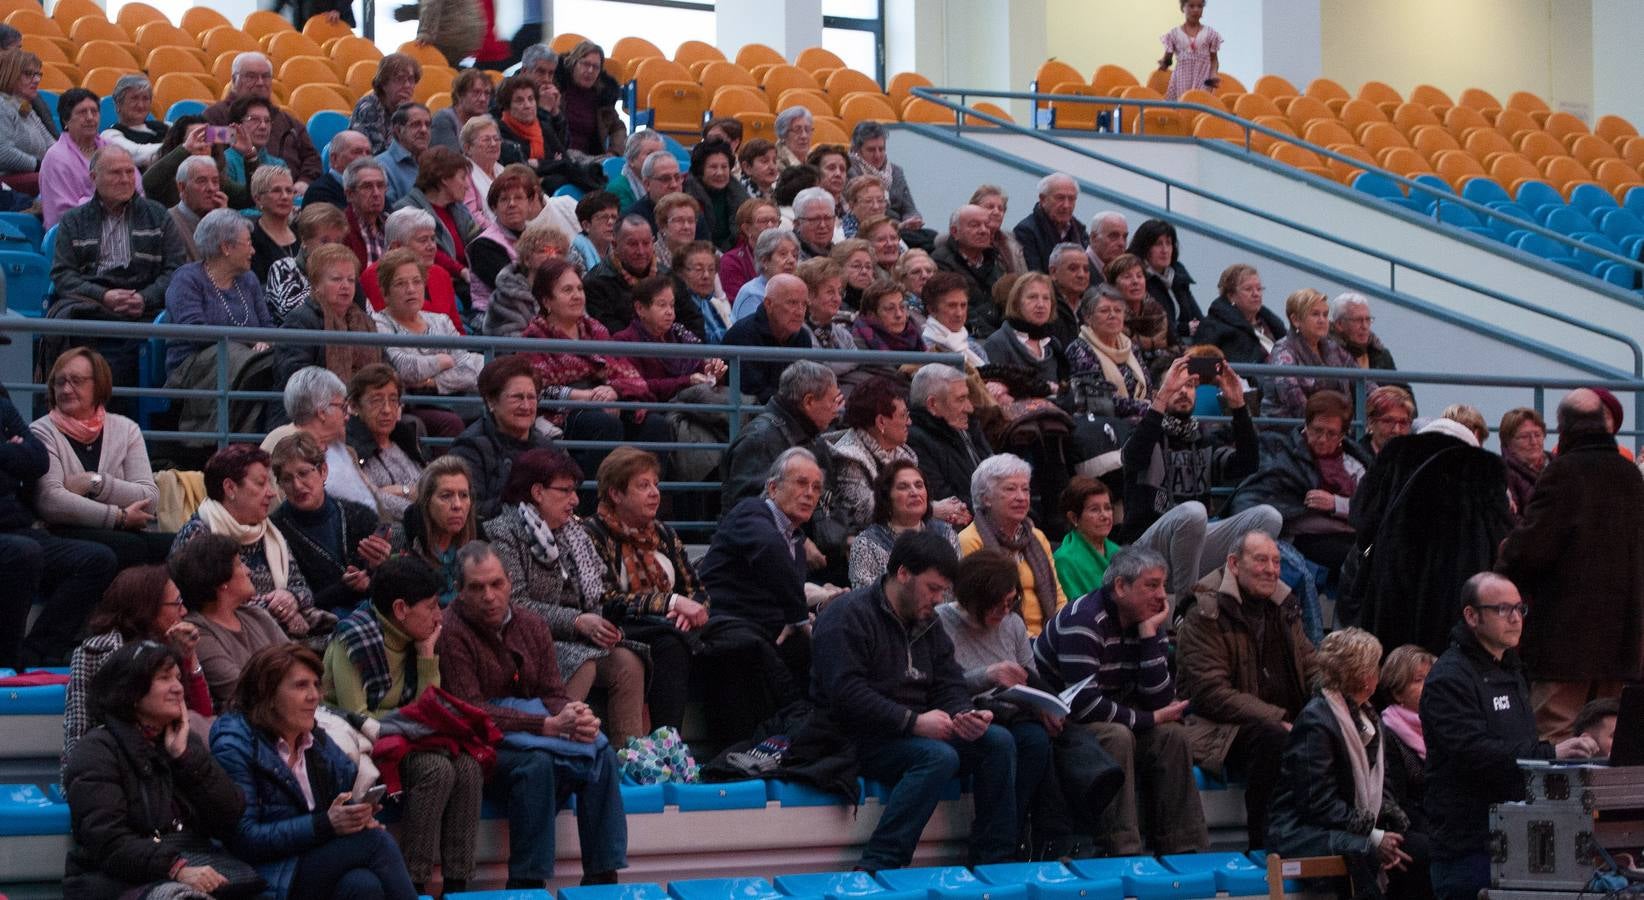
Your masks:
M 1291 686 L 1305 698 L 1314 678 L 1314 643 L 1302 630 L 1300 605 L 1281 581 L 1269 597 L 1287 625 Z M 1185 719 L 1194 744 L 1194 762 L 1221 770 L 1240 726 L 1281 722 L 1289 714 L 1263 701 L 1261 665 L 1256 635 L 1240 609 L 1240 587 L 1226 566 L 1194 584 L 1194 605 L 1175 632 L 1177 696 L 1192 701 L 1194 714 Z

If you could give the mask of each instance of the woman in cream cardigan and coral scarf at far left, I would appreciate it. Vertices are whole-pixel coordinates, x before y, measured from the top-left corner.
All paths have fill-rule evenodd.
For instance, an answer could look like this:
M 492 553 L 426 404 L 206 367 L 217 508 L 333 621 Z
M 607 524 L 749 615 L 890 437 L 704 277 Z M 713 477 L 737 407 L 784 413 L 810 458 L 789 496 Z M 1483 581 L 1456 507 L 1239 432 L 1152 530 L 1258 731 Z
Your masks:
M 171 535 L 150 530 L 159 489 L 141 429 L 107 410 L 109 362 L 87 347 L 64 350 L 46 383 L 49 411 L 30 426 L 49 457 L 35 513 L 58 536 L 107 546 L 120 568 L 163 563 Z

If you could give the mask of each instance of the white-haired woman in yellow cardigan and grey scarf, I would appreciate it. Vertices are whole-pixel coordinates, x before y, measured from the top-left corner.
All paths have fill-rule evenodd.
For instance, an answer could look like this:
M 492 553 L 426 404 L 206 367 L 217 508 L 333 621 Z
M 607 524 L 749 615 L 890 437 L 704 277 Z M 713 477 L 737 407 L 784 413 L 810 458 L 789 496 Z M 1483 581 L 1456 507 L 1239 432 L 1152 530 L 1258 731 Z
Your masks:
M 1016 559 L 1021 576 L 1021 614 L 1029 637 L 1051 622 L 1067 602 L 1055 578 L 1051 540 L 1032 523 L 1032 467 L 1019 456 L 1000 452 L 983 459 L 970 476 L 975 520 L 958 533 L 958 551 L 1001 548 Z

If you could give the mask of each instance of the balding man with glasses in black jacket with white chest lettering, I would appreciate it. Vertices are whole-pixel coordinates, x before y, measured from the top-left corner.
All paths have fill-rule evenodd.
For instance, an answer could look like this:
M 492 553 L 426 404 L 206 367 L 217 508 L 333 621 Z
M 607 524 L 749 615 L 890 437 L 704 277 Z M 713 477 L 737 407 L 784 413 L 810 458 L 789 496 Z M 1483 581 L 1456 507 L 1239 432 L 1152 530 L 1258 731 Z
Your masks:
M 1527 605 L 1511 581 L 1478 573 L 1462 586 L 1462 622 L 1422 688 L 1427 818 L 1438 900 L 1489 887 L 1489 805 L 1524 800 L 1521 759 L 1590 757 L 1591 737 L 1535 739 L 1531 691 L 1514 648 Z

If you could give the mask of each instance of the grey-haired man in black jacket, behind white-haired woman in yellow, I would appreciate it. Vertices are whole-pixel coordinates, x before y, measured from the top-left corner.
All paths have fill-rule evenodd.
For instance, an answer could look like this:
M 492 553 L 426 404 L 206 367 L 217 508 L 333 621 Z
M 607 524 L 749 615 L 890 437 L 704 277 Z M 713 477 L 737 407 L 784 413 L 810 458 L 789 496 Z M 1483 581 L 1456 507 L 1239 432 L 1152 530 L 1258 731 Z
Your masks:
M 968 507 L 970 476 L 993 456 L 993 448 L 972 415 L 975 406 L 965 373 L 940 362 L 919 367 L 907 392 L 907 408 L 912 415 L 907 446 L 919 454 L 931 503 L 958 497 Z

